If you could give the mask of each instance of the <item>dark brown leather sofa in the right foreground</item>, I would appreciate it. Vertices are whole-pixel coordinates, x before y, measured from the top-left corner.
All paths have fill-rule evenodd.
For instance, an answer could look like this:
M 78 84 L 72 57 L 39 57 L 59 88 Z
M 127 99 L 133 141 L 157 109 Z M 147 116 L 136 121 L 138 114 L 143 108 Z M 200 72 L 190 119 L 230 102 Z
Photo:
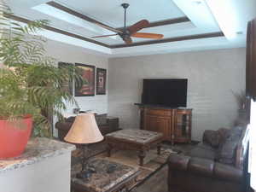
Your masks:
M 248 135 L 247 125 L 205 131 L 189 154 L 170 155 L 169 192 L 244 192 Z

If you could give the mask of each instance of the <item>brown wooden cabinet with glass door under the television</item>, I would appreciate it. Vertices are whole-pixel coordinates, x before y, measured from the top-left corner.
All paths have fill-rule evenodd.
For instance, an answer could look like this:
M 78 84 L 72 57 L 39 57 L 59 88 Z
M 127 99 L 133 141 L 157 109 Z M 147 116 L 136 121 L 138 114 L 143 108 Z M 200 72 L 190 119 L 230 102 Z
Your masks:
M 191 142 L 192 108 L 163 108 L 136 104 L 140 108 L 141 129 L 164 134 L 173 143 Z

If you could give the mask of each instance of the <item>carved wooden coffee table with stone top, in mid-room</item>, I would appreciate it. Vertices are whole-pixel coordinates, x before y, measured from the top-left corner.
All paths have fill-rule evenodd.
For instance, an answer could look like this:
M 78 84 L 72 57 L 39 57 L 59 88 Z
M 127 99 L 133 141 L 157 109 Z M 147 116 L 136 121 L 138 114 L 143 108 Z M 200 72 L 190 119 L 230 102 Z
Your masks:
M 157 147 L 157 154 L 160 154 L 163 134 L 160 132 L 145 130 L 120 130 L 109 133 L 105 136 L 108 143 L 108 157 L 111 156 L 113 148 L 137 150 L 139 165 L 143 166 L 143 160 L 146 152 L 153 147 Z

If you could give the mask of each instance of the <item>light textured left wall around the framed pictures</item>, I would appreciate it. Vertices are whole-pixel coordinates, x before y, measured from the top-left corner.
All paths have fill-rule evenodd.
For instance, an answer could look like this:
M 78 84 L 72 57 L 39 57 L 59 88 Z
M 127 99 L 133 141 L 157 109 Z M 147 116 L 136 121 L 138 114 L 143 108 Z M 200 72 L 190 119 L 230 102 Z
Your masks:
M 54 57 L 58 61 L 78 62 L 108 69 L 107 57 L 88 54 L 86 49 L 52 40 L 48 40 L 45 45 L 48 55 Z M 96 113 L 108 113 L 108 93 L 107 95 L 102 96 L 77 96 L 76 100 L 79 102 L 81 110 L 93 110 Z M 73 108 L 76 107 L 69 106 L 67 108 L 67 115 L 73 113 Z

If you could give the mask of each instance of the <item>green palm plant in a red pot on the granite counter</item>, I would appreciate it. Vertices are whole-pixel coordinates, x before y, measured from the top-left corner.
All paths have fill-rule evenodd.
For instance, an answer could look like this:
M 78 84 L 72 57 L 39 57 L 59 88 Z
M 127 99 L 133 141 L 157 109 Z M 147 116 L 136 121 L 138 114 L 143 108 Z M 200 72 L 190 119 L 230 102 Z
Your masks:
M 47 20 L 21 26 L 9 20 L 4 4 L 0 8 L 0 158 L 9 158 L 22 154 L 31 133 L 51 137 L 49 117 L 61 118 L 66 103 L 75 103 L 62 85 L 84 82 L 78 68 L 56 67 L 45 55 L 44 38 L 33 35 Z

